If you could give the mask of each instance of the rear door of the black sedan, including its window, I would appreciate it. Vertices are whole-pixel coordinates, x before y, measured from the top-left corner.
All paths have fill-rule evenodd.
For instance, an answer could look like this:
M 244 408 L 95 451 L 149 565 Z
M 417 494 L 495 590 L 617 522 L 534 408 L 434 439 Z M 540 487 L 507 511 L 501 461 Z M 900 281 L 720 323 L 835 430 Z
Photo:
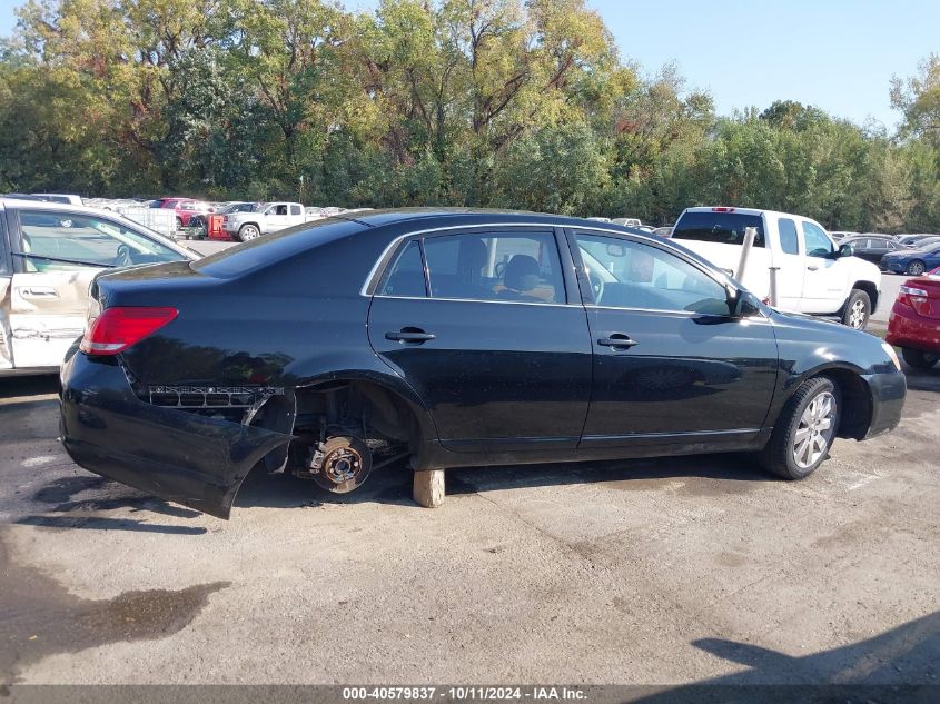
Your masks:
M 372 346 L 425 400 L 447 449 L 577 446 L 591 343 L 557 245 L 550 227 L 433 232 L 402 242 L 379 281 Z

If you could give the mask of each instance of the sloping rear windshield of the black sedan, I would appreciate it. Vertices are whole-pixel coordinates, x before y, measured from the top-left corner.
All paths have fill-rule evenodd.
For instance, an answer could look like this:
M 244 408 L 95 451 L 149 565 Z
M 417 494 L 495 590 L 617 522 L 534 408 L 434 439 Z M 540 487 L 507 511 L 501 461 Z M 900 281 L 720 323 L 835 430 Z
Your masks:
M 368 229 L 352 220 L 319 220 L 265 235 L 192 262 L 192 269 L 216 278 L 232 278 L 285 261 L 308 249 Z

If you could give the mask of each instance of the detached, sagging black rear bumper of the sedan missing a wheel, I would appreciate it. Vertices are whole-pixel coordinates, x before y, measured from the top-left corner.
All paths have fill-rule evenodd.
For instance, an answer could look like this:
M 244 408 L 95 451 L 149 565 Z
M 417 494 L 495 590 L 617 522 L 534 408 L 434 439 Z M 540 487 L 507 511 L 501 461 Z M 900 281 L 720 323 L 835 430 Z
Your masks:
M 251 468 L 291 439 L 142 401 L 113 359 L 75 353 L 61 387 L 62 444 L 76 464 L 219 518 Z

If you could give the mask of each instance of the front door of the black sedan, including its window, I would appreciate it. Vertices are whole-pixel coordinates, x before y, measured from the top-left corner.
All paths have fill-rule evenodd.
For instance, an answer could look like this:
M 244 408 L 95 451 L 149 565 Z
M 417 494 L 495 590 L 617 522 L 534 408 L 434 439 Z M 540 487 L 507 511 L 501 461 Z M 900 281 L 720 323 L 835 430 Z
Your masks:
M 754 438 L 776 374 L 763 316 L 733 318 L 725 285 L 675 250 L 572 230 L 594 350 L 581 447 Z

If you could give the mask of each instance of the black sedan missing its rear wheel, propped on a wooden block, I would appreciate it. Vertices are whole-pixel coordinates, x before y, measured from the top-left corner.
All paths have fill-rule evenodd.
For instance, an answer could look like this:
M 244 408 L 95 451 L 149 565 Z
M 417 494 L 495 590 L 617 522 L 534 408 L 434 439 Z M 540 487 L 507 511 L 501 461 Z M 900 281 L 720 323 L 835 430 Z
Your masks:
M 81 466 L 227 518 L 255 466 L 370 469 L 750 450 L 799 479 L 898 425 L 891 347 L 771 310 L 606 222 L 392 210 L 101 275 L 62 368 Z

